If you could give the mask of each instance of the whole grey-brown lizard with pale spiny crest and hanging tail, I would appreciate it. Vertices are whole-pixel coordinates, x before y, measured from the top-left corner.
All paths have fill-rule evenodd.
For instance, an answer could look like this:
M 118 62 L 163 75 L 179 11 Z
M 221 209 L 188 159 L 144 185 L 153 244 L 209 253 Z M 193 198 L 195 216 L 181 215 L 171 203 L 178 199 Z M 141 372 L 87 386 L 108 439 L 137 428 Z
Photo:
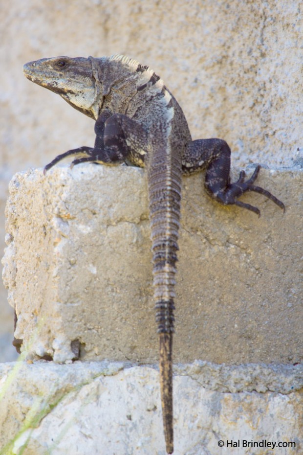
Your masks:
M 29 62 L 24 74 L 62 96 L 75 109 L 95 120 L 94 147 L 69 150 L 47 164 L 76 156 L 72 165 L 123 163 L 147 171 L 151 223 L 153 286 L 159 333 L 159 369 L 166 451 L 173 453 L 173 309 L 181 179 L 207 168 L 205 188 L 222 204 L 254 211 L 238 201 L 256 191 L 284 209 L 281 201 L 255 186 L 260 166 L 244 181 L 230 182 L 230 148 L 222 139 L 192 140 L 182 109 L 152 69 L 125 56 L 102 58 L 55 57 Z

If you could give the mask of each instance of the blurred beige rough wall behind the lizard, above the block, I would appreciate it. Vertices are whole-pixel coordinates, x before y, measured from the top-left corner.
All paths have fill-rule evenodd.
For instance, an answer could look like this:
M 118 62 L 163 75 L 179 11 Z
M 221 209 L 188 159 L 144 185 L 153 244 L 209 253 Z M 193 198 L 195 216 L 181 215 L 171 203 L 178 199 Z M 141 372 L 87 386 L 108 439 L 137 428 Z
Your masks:
M 21 7 L 20 0 L 2 0 L 0 6 L 0 232 L 13 174 L 94 140 L 91 119 L 24 78 L 22 65 L 45 56 L 129 55 L 161 75 L 193 137 L 226 139 L 238 167 L 300 163 L 300 2 L 27 0 Z M 0 283 L 0 361 L 14 359 L 4 347 L 12 338 L 9 310 Z

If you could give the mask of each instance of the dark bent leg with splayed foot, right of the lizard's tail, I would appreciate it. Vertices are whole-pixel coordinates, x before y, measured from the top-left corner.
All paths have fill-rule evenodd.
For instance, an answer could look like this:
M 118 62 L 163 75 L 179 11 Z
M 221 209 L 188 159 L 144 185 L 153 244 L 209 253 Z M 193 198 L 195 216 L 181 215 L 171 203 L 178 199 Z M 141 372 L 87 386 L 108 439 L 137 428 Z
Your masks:
M 285 210 L 284 204 L 269 191 L 254 185 L 261 166 L 258 165 L 250 179 L 245 179 L 241 171 L 237 182 L 230 182 L 230 155 L 228 144 L 222 139 L 198 139 L 190 142 L 182 159 L 183 173 L 192 174 L 206 168 L 204 186 L 207 193 L 221 204 L 235 204 L 257 213 L 260 210 L 253 205 L 238 201 L 238 197 L 246 191 L 255 191 L 271 199 Z

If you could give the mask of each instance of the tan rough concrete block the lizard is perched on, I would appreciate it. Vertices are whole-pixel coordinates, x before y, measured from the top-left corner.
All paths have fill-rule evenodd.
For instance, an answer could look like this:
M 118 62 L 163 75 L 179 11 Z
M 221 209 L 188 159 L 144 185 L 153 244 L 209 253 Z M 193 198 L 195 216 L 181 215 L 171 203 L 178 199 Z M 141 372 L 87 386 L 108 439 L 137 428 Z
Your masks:
M 250 169 L 248 172 L 252 172 Z M 183 179 L 174 361 L 302 361 L 302 172 L 261 170 L 242 200 L 261 217 Z M 144 171 L 94 164 L 16 174 L 3 258 L 15 337 L 28 359 L 158 358 Z M 80 348 L 80 353 L 79 353 Z

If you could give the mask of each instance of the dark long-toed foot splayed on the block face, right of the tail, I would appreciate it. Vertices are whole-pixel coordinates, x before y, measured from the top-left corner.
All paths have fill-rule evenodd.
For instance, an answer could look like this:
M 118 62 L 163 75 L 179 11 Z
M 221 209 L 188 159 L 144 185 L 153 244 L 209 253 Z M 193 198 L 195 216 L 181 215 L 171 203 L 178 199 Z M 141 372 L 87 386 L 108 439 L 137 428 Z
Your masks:
M 260 210 L 258 207 L 254 207 L 253 205 L 243 203 L 238 201 L 238 197 L 241 196 L 246 191 L 254 191 L 256 193 L 260 193 L 266 198 L 273 201 L 275 204 L 279 205 L 279 207 L 285 211 L 285 205 L 277 199 L 274 195 L 272 195 L 269 191 L 261 188 L 260 186 L 254 185 L 255 180 L 258 177 L 260 171 L 260 164 L 256 167 L 253 175 L 245 182 L 245 172 L 241 171 L 239 174 L 239 178 L 237 182 L 229 183 L 223 190 L 219 190 L 216 193 L 209 191 L 209 188 L 206 187 L 206 190 L 211 194 L 213 198 L 215 198 L 218 202 L 224 205 L 234 204 L 238 205 L 239 207 L 246 208 L 247 210 L 251 210 L 252 212 L 257 213 L 260 217 Z

